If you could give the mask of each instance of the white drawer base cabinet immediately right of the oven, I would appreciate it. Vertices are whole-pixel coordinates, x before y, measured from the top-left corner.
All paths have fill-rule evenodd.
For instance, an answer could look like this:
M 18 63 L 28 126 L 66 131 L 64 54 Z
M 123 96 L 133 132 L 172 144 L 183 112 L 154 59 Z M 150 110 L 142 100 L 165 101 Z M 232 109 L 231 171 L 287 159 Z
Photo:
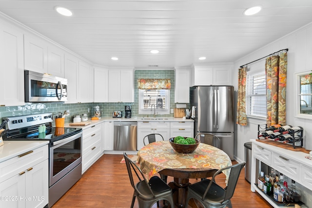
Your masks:
M 82 173 L 95 163 L 102 153 L 101 124 L 82 131 Z

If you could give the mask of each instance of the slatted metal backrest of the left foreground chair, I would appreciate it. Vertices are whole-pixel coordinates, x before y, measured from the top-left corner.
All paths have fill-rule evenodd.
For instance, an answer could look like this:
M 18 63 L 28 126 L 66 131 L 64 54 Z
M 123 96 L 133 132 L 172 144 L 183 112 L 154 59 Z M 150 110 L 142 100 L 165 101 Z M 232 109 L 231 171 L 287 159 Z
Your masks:
M 130 179 L 130 183 L 131 186 L 135 189 L 135 182 L 134 182 L 134 178 L 133 178 L 133 171 L 136 173 L 137 178 L 139 181 L 145 181 L 144 183 L 146 183 L 146 187 L 149 188 L 151 194 L 153 195 L 153 197 L 155 197 L 155 194 L 153 193 L 152 189 L 150 188 L 150 185 L 148 184 L 142 170 L 137 166 L 137 164 L 132 161 L 128 155 L 126 154 L 126 152 L 123 152 L 123 157 L 125 158 L 125 163 L 127 166 L 127 170 L 128 170 L 128 175 L 129 175 L 129 179 Z

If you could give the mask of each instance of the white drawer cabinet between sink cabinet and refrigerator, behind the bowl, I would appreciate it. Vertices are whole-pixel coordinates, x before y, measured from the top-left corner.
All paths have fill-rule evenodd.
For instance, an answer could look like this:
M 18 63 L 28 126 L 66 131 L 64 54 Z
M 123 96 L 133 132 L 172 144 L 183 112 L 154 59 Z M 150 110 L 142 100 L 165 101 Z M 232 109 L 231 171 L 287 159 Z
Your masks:
M 176 136 L 194 137 L 194 123 L 186 121 L 170 122 L 170 138 Z

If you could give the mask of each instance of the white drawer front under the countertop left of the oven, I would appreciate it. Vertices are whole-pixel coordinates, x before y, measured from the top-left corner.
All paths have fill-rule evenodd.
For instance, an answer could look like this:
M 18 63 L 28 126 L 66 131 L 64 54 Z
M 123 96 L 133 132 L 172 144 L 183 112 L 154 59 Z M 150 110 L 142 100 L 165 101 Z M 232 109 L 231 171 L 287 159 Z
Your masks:
M 32 152 L 29 151 L 29 153 L 25 152 L 24 154 L 24 156 L 21 154 L 0 163 L 0 183 L 48 159 L 48 145 L 35 149 Z

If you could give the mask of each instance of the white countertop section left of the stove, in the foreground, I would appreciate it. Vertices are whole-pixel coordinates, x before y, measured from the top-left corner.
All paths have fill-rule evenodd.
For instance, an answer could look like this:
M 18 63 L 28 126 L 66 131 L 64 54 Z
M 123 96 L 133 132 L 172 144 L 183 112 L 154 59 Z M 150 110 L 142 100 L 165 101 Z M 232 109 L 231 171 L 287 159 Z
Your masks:
M 0 162 L 18 156 L 27 151 L 35 150 L 49 144 L 49 141 L 3 141 L 0 147 Z

